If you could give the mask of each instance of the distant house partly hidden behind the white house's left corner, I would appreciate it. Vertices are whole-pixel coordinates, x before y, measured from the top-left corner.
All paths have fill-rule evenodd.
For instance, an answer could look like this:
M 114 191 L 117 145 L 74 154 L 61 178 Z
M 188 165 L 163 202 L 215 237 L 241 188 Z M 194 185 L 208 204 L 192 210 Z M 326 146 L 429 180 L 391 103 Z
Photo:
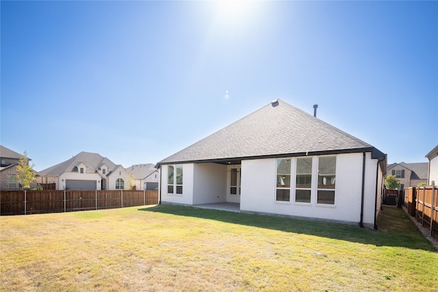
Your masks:
M 131 175 L 133 185 L 137 190 L 158 189 L 159 174 L 155 164 L 137 164 L 125 170 Z

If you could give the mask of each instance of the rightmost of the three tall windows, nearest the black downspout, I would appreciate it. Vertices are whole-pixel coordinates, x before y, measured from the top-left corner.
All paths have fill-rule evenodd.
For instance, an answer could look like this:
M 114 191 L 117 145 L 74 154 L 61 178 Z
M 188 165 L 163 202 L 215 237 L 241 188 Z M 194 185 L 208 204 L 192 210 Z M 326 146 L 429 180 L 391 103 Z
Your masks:
M 335 204 L 336 157 L 318 159 L 318 204 Z

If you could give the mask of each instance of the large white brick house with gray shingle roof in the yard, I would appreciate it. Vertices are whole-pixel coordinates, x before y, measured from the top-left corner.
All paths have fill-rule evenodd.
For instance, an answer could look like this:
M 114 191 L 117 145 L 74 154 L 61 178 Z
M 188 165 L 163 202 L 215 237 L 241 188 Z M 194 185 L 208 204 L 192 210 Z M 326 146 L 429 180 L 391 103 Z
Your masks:
M 374 226 L 386 155 L 281 100 L 160 161 L 160 202 Z

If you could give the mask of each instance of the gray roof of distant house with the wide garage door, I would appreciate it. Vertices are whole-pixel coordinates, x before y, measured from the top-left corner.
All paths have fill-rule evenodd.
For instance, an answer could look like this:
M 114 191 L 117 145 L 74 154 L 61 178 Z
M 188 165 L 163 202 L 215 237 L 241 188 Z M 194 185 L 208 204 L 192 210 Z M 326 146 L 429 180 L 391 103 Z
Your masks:
M 78 155 L 75 155 L 64 162 L 53 165 L 45 170 L 41 170 L 38 172 L 38 174 L 40 176 L 59 176 L 64 172 L 72 172 L 73 168 L 80 163 L 87 165 L 87 168 L 90 168 L 87 169 L 87 172 L 92 173 L 94 173 L 102 164 L 106 164 L 108 166 L 108 172 L 111 172 L 117 167 L 117 165 L 110 161 L 110 159 L 102 157 L 97 153 L 80 152 Z

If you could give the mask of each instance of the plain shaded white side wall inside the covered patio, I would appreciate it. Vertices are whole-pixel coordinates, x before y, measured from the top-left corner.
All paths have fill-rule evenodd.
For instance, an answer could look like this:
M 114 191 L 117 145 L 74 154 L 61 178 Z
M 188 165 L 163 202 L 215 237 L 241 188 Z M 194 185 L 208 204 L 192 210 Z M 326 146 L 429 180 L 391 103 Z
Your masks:
M 193 204 L 227 202 L 226 194 L 226 165 L 217 163 L 194 164 Z

